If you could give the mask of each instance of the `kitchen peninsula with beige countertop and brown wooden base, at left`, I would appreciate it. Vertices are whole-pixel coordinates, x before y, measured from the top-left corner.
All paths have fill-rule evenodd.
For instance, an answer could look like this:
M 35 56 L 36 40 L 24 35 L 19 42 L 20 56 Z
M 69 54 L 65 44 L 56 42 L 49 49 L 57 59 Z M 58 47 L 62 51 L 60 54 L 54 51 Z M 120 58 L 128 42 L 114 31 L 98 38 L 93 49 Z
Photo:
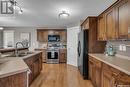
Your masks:
M 27 48 L 20 48 L 25 51 Z M 15 49 L 1 49 L 10 52 Z M 12 55 L 0 58 L 0 87 L 28 87 L 42 70 L 41 52 L 28 52 L 26 55 Z

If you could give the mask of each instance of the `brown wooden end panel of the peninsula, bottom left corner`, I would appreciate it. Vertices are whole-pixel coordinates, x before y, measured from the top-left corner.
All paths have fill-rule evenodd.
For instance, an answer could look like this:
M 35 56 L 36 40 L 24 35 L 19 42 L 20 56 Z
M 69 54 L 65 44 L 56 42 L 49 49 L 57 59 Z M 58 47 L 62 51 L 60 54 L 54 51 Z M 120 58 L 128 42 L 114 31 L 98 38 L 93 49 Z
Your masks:
M 27 87 L 27 72 L 0 78 L 0 87 Z

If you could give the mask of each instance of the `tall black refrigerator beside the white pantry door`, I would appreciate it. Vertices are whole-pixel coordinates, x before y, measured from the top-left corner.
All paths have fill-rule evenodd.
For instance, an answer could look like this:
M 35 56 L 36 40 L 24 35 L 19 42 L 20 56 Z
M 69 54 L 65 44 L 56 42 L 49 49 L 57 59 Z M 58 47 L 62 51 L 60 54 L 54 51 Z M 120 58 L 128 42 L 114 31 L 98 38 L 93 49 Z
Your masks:
M 78 35 L 78 69 L 84 79 L 88 79 L 88 39 L 89 30 L 82 30 Z

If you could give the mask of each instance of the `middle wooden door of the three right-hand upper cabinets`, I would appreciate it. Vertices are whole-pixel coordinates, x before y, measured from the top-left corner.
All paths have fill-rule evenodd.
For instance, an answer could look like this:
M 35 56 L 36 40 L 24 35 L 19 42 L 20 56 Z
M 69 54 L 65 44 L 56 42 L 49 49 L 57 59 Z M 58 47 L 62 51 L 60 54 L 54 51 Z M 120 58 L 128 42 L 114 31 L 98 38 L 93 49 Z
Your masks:
M 105 13 L 105 28 L 107 40 L 115 40 L 116 39 L 116 28 L 115 28 L 115 10 L 109 9 Z

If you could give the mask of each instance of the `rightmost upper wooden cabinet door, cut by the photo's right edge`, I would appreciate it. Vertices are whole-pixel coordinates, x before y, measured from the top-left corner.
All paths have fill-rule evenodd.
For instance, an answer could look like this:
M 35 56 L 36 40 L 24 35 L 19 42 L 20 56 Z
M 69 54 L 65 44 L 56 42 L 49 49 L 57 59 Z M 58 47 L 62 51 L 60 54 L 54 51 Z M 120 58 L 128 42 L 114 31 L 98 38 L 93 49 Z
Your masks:
M 116 18 L 118 38 L 128 39 L 128 29 L 130 28 L 130 0 L 121 0 L 116 6 Z

